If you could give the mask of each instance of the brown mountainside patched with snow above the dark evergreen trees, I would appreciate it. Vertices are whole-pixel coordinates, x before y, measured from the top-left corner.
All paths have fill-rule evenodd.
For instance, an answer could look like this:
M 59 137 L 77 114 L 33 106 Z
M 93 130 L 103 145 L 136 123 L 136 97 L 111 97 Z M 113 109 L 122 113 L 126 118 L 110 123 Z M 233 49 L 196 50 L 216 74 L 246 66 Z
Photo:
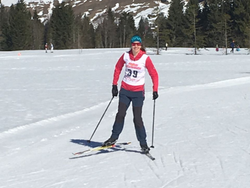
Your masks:
M 62 0 L 25 1 L 30 10 L 37 10 L 41 22 L 50 18 L 52 9 L 58 2 L 61 3 Z M 75 14 L 88 15 L 92 22 L 95 22 L 99 16 L 107 12 L 108 8 L 111 8 L 117 14 L 123 11 L 131 13 L 137 26 L 141 17 L 153 21 L 159 12 L 167 16 L 171 0 L 165 3 L 161 3 L 160 0 L 66 0 L 66 2 L 72 5 Z M 11 4 L 16 4 L 17 0 L 3 0 L 2 3 L 5 6 L 11 6 Z

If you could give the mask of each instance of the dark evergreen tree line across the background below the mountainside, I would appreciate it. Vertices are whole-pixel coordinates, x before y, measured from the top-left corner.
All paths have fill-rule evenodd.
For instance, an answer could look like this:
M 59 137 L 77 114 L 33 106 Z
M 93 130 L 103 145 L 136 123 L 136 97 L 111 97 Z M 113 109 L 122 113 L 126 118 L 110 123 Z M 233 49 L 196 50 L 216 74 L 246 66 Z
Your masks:
M 138 27 L 130 13 L 108 9 L 95 23 L 88 16 L 75 15 L 70 4 L 58 3 L 50 19 L 42 24 L 36 11 L 30 12 L 24 0 L 6 8 L 0 4 L 0 50 L 129 47 L 134 34 L 146 47 L 227 47 L 232 40 L 250 46 L 249 0 L 172 0 L 168 16 L 155 7 L 149 23 L 141 18 Z

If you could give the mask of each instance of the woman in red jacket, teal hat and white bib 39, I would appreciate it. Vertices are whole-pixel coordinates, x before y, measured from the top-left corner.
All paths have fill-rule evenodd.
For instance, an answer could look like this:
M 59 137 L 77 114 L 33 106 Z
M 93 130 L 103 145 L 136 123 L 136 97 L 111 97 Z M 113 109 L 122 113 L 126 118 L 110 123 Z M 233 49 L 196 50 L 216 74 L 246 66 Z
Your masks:
M 124 126 L 126 111 L 132 102 L 134 125 L 137 140 L 143 152 L 148 153 L 149 147 L 146 141 L 146 131 L 142 121 L 142 106 L 144 101 L 145 72 L 148 70 L 153 82 L 153 100 L 158 98 L 158 73 L 142 47 L 141 37 L 135 35 L 131 38 L 131 49 L 125 52 L 115 66 L 112 95 L 118 95 L 117 82 L 125 65 L 125 75 L 119 92 L 119 105 L 111 137 L 104 142 L 104 146 L 113 145 L 118 139 Z

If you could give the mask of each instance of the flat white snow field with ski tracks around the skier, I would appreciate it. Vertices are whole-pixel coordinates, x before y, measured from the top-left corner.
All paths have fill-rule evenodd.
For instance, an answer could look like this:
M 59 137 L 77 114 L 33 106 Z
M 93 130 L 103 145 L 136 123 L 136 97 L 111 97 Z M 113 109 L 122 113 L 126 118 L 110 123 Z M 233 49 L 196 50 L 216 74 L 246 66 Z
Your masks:
M 74 158 L 109 138 L 115 63 L 127 49 L 0 52 L 1 188 L 249 188 L 250 56 L 169 48 L 151 55 L 160 78 L 152 141 L 152 84 L 143 109 L 150 160 L 131 108 L 124 148 Z M 151 54 L 154 50 L 149 51 Z

